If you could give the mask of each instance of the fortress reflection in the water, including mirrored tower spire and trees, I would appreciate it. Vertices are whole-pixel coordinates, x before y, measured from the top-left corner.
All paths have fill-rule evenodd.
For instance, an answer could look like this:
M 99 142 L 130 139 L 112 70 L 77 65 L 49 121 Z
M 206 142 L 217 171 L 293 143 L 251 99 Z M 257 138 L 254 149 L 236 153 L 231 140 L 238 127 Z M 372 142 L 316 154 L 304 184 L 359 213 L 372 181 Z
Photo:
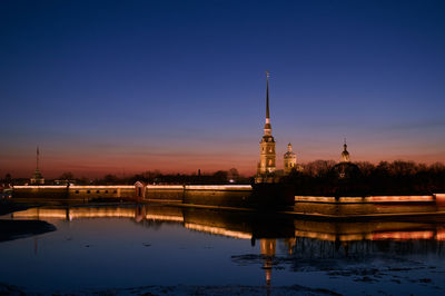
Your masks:
M 265 219 L 251 214 L 168 206 L 32 208 L 12 214 L 14 219 L 68 220 L 127 218 L 145 227 L 174 223 L 194 231 L 259 239 L 260 264 L 267 285 L 280 258 L 295 264 L 307 258 L 436 254 L 445 256 L 445 227 L 433 223 L 363 221 L 328 223 L 293 218 Z M 286 229 L 284 231 L 284 229 Z

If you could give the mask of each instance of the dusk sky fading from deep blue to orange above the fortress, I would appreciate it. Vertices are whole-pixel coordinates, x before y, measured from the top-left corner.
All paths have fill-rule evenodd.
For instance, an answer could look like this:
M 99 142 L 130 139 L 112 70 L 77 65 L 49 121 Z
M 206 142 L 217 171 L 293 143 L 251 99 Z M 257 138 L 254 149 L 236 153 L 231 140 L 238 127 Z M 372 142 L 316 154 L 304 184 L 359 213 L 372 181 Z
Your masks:
M 0 177 L 445 161 L 444 1 L 0 1 Z

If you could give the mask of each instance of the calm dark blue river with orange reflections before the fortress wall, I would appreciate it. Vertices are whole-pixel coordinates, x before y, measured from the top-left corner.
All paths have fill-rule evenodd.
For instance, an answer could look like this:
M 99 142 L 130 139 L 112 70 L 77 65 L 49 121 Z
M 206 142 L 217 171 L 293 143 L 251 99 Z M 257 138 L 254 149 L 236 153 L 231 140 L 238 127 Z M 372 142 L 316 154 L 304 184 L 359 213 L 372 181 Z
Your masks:
M 439 295 L 445 288 L 443 223 L 328 223 L 162 206 L 31 208 L 2 218 L 57 227 L 0 243 L 0 283 L 26 292 L 199 285 Z

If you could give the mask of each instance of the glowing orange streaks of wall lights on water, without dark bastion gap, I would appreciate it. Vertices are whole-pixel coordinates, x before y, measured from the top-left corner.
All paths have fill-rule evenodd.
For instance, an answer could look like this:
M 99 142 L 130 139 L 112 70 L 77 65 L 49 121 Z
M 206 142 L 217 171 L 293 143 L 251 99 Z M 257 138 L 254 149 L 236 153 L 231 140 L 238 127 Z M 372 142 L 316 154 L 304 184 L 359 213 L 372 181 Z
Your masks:
M 176 208 L 30 208 L 11 214 L 14 219 L 62 219 L 75 220 L 81 218 L 130 218 L 136 221 L 157 220 L 182 224 L 185 218 L 181 210 Z M 297 221 L 297 220 L 296 220 Z M 210 224 L 210 226 L 208 225 Z M 251 239 L 253 234 L 243 230 L 231 230 L 230 224 L 214 226 L 212 221 L 204 220 L 200 224 L 186 223 L 186 228 L 222 235 L 227 237 Z M 307 237 L 325 241 L 358 241 L 358 240 L 445 240 L 445 227 L 418 223 L 360 223 L 360 224 L 319 224 L 296 223 L 294 238 Z M 306 228 L 306 229 L 303 229 Z

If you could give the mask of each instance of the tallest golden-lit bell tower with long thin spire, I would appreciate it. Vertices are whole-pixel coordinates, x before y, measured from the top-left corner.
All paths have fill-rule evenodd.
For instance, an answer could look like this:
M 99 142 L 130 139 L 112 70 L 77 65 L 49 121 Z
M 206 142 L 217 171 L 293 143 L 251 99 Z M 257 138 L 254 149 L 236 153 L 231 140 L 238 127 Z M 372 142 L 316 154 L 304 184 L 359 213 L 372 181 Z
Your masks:
M 257 175 L 273 175 L 276 170 L 276 154 L 275 139 L 271 136 L 270 116 L 269 116 L 269 72 L 267 73 L 267 90 L 266 90 L 266 124 L 264 127 L 264 136 L 260 141 L 260 156 L 257 168 Z

